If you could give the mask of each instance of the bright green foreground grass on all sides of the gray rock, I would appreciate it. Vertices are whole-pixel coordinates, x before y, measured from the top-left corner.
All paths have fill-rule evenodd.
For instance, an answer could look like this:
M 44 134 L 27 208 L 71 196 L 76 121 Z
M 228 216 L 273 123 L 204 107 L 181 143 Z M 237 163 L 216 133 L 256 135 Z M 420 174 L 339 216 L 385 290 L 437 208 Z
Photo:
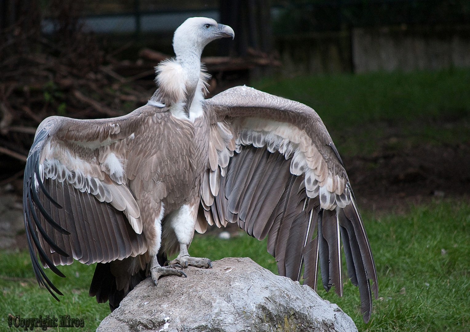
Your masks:
M 374 217 L 366 214 L 368 231 L 379 278 L 379 300 L 371 320 L 364 324 L 359 312 L 359 292 L 346 276 L 344 296 L 321 288 L 318 293 L 337 303 L 359 331 L 470 331 L 470 205 L 448 200 L 411 209 L 403 216 Z M 442 255 L 441 249 L 446 250 Z M 276 272 L 266 240 L 246 234 L 229 240 L 196 236 L 189 253 L 209 257 L 251 257 Z M 68 278 L 53 281 L 65 294 L 56 302 L 33 279 L 27 252 L 0 252 L 0 331 L 6 331 L 7 315 L 24 317 L 69 314 L 85 319 L 84 331 L 94 331 L 110 313 L 108 304 L 88 297 L 94 267 L 74 263 L 62 267 Z M 50 272 L 50 271 L 48 271 Z M 77 274 L 78 273 L 78 274 Z M 319 285 L 321 281 L 319 280 Z

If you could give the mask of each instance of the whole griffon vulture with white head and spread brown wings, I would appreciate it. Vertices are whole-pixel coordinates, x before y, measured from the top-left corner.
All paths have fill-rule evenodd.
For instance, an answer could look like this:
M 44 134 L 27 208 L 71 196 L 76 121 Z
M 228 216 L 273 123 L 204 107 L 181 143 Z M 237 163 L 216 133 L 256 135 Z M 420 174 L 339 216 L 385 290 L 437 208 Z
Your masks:
M 117 118 L 52 116 L 39 125 L 23 195 L 39 284 L 57 299 L 63 294 L 41 264 L 65 277 L 56 265 L 98 263 L 89 294 L 113 310 L 147 276 L 157 285 L 160 276 L 185 275 L 188 265 L 210 268 L 209 259 L 188 254 L 194 231 L 237 223 L 267 236 L 280 275 L 315 289 L 320 265 L 323 287 L 335 285 L 339 296 L 342 242 L 368 321 L 374 260 L 328 131 L 312 108 L 250 87 L 204 99 L 201 53 L 222 37 L 234 31 L 189 18 L 174 33 L 176 57 L 156 67 L 158 89 L 145 106 Z

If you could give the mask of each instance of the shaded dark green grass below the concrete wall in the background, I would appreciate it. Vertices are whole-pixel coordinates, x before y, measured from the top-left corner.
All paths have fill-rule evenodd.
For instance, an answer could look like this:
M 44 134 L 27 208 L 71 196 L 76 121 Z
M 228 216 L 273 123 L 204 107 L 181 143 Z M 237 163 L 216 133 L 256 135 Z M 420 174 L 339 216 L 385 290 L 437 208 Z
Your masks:
M 371 154 L 392 137 L 407 145 L 470 140 L 470 69 L 298 76 L 253 85 L 315 109 L 341 154 Z

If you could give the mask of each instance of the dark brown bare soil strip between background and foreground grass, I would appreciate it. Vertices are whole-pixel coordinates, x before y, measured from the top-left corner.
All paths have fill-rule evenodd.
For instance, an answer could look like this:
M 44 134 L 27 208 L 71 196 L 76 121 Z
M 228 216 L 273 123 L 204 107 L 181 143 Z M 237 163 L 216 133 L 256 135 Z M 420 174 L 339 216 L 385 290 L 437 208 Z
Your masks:
M 470 144 L 424 144 L 343 158 L 361 208 L 400 212 L 432 198 L 470 194 Z

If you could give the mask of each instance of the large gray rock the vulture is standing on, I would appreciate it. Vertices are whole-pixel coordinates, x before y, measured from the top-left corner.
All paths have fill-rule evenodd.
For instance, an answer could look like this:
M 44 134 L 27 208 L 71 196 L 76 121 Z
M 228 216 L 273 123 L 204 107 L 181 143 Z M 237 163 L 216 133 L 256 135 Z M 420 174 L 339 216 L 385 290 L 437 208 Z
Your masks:
M 336 304 L 309 286 L 276 276 L 250 258 L 224 258 L 188 278 L 150 278 L 96 331 L 357 331 Z

